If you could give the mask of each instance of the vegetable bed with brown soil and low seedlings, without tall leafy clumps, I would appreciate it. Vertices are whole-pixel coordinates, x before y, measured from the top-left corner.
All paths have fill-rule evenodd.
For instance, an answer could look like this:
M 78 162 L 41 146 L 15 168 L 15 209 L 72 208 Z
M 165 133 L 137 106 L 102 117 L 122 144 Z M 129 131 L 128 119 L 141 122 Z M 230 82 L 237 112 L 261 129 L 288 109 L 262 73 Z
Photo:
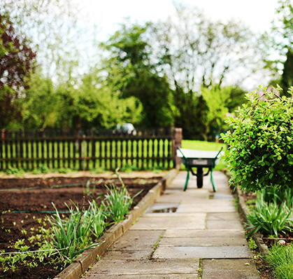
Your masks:
M 131 197 L 132 207 L 152 189 L 162 177 L 123 179 Z M 118 178 L 104 177 L 48 177 L 31 179 L 0 180 L 0 278 L 54 278 L 70 262 L 64 261 L 62 254 L 52 256 L 52 251 L 23 253 L 31 250 L 46 250 L 45 240 L 50 241 L 52 229 L 49 216 L 69 216 L 69 207 L 73 203 L 81 207 L 85 197 L 84 210 L 89 201 L 96 200 L 101 205 L 103 196 L 108 193 L 105 185 L 121 187 Z M 72 203 L 73 202 L 73 203 Z M 65 204 L 66 203 L 66 204 Z M 51 219 L 52 220 L 52 219 Z M 108 226 L 113 224 L 107 220 Z M 108 227 L 106 227 L 108 229 Z M 90 236 L 94 242 L 94 236 Z M 85 243 L 90 245 L 90 243 Z M 19 254 L 3 254 L 19 252 Z M 16 255 L 16 257 L 15 257 Z M 9 261 L 4 261 L 10 257 Z M 65 264 L 64 264 L 65 263 Z

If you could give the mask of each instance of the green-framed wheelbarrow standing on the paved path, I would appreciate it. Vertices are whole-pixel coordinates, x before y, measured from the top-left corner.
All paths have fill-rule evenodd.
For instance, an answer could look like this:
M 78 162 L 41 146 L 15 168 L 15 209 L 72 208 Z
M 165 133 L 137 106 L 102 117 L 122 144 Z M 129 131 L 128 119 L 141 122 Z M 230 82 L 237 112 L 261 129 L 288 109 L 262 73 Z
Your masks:
M 220 161 L 220 155 L 223 148 L 220 151 L 203 151 L 194 149 L 181 149 L 177 147 L 177 156 L 181 159 L 181 162 L 185 165 L 187 169 L 186 182 L 183 191 L 187 189 L 187 184 L 190 179 L 190 172 L 192 175 L 196 176 L 196 186 L 197 188 L 202 188 L 203 177 L 210 173 L 210 182 L 212 182 L 213 190 L 215 189 L 215 183 L 213 181 L 213 168 Z M 196 173 L 192 170 L 196 168 Z M 203 168 L 208 168 L 208 172 L 203 174 Z

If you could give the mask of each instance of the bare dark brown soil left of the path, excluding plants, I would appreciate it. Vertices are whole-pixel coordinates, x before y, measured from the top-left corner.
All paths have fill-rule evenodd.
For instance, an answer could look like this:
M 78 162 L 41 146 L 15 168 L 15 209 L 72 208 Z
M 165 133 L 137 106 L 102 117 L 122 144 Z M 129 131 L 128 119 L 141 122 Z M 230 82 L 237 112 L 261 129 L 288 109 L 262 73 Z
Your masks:
M 135 203 L 138 203 L 148 191 L 159 182 L 162 177 L 128 177 L 123 178 L 129 194 L 133 197 L 136 193 L 143 190 L 136 196 Z M 85 184 L 91 182 L 91 189 L 95 186 L 94 193 L 88 195 L 85 193 Z M 107 193 L 105 184 L 108 186 L 121 186 L 117 176 L 113 177 L 45 177 L 38 178 L 1 178 L 0 179 L 0 250 L 5 252 L 15 252 L 10 247 L 17 240 L 24 238 L 24 245 L 29 245 L 29 237 L 37 234 L 40 224 L 44 228 L 50 225 L 45 222 L 46 215 L 52 215 L 55 212 L 52 203 L 59 211 L 68 211 L 65 203 L 73 205 L 71 200 L 78 205 L 82 204 L 85 196 L 85 207 L 87 200 L 95 198 L 97 203 L 101 199 L 99 196 Z M 134 204 L 135 205 L 135 204 Z M 133 205 L 133 206 L 134 206 Z M 44 223 L 45 222 L 45 223 Z M 27 233 L 25 233 L 27 232 Z M 37 250 L 38 247 L 32 247 L 31 250 Z M 29 257 L 27 258 L 29 260 Z M 45 259 L 46 261 L 47 259 Z M 49 261 L 49 259 L 48 259 Z M 0 263 L 0 278 L 54 278 L 61 271 L 51 264 L 41 264 L 37 262 L 37 267 L 29 268 L 22 264 L 17 264 L 17 271 L 4 272 Z M 57 268 L 57 270 L 56 270 Z

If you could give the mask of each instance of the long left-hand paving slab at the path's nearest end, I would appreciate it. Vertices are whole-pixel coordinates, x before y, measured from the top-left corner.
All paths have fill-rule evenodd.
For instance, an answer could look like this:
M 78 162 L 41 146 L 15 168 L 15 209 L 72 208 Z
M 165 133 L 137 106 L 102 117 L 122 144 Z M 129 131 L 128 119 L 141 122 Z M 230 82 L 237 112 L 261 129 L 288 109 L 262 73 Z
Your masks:
M 169 274 L 197 274 L 199 259 L 161 259 L 161 260 L 101 260 L 94 269 L 87 273 L 87 278 L 94 278 L 94 275 L 169 275 Z M 139 275 L 139 276 L 138 276 Z M 104 278 L 104 277 L 103 277 Z

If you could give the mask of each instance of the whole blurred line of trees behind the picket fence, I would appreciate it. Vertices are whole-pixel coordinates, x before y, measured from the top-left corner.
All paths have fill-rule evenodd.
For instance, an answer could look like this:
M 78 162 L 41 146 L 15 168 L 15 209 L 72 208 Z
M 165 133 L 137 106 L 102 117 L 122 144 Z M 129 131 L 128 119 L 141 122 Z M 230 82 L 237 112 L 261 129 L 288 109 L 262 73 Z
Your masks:
M 0 128 L 130 122 L 208 140 L 227 129 L 224 118 L 245 102 L 254 79 L 278 83 L 284 94 L 293 86 L 291 0 L 279 1 L 271 34 L 174 4 L 167 20 L 126 20 L 103 42 L 97 29 L 78 24 L 84 15 L 72 1 L 3 1 Z

